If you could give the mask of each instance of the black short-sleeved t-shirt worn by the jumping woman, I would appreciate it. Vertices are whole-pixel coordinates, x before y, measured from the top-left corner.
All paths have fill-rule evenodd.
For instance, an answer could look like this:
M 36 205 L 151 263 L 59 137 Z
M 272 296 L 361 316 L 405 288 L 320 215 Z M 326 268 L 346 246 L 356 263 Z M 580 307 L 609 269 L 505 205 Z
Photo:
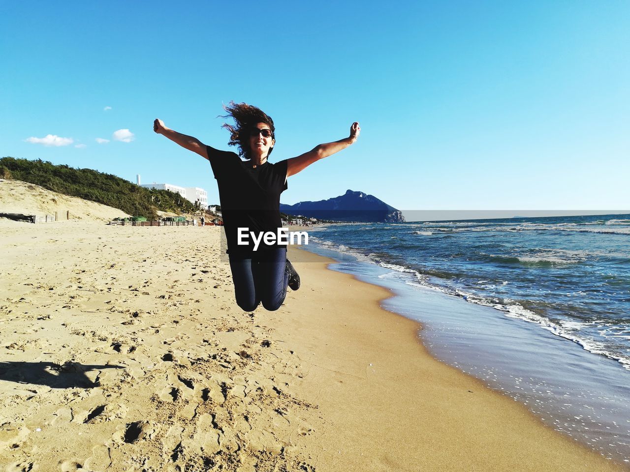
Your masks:
M 238 154 L 207 146 L 208 159 L 219 186 L 221 213 L 230 257 L 251 257 L 256 237 L 261 232 L 277 234 L 280 220 L 280 194 L 287 189 L 287 160 L 265 162 L 252 168 Z M 237 244 L 238 228 L 248 228 L 248 245 Z M 258 251 L 265 249 L 263 240 Z M 270 245 L 277 247 L 278 242 Z M 266 246 L 269 247 L 269 246 Z

